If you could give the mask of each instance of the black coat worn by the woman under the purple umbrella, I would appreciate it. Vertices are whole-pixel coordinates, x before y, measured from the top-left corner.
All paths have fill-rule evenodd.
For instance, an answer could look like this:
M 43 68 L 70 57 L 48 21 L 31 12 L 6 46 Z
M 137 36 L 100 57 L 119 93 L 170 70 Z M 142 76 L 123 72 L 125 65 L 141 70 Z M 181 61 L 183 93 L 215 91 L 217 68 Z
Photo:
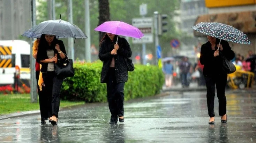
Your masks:
M 107 36 L 107 35 L 106 35 Z M 114 42 L 110 40 L 109 37 L 106 37 L 100 44 L 99 48 L 99 59 L 103 61 L 103 67 L 100 75 L 100 83 L 107 82 L 107 73 L 110 67 L 112 58 L 115 58 L 115 77 L 116 82 L 127 82 L 128 81 L 128 71 L 125 58 L 131 57 L 131 48 L 129 43 L 125 38 L 118 38 L 119 49 L 117 50 L 116 55 L 111 55 L 111 51 L 114 49 L 114 44 L 116 42 L 116 36 Z

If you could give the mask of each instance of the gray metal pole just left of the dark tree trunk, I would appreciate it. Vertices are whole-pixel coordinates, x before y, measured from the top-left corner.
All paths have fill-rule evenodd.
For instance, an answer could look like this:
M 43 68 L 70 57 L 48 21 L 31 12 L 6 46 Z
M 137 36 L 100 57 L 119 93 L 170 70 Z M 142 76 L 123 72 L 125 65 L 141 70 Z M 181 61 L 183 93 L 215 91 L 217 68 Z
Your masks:
M 84 0 L 85 10 L 84 10 L 84 25 L 85 25 L 85 34 L 88 36 L 88 39 L 85 39 L 85 61 L 91 62 L 91 36 L 90 36 L 90 7 L 89 0 Z

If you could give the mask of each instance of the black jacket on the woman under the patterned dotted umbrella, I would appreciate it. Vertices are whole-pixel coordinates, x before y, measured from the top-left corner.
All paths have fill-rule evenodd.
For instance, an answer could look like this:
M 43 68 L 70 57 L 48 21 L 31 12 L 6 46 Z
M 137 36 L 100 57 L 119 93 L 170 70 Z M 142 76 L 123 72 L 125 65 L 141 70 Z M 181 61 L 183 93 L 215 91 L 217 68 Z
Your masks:
M 225 40 L 221 40 L 220 42 L 223 50 L 219 50 L 219 56 L 214 57 L 213 53 L 218 49 L 217 45 L 219 44 L 219 41 L 219 39 L 216 39 L 215 50 L 211 49 L 211 43 L 209 41 L 201 47 L 200 62 L 204 65 L 203 74 L 205 76 L 226 74 L 222 69 L 223 59 L 221 58 L 221 54 L 228 60 L 232 60 L 235 57 L 235 53 L 231 50 L 228 42 Z

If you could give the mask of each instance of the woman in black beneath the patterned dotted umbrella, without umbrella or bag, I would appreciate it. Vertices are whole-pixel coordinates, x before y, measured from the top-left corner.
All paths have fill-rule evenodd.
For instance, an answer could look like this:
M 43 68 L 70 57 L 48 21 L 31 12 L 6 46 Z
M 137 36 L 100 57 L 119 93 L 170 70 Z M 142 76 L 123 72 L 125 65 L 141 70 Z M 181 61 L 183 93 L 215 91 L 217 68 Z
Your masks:
M 222 123 L 227 122 L 226 106 L 227 99 L 225 95 L 225 88 L 227 84 L 227 73 L 222 69 L 223 59 L 225 56 L 228 60 L 234 58 L 235 54 L 229 47 L 225 40 L 216 39 L 212 36 L 207 36 L 208 42 L 201 47 L 200 62 L 204 65 L 203 74 L 207 88 L 207 106 L 208 115 L 210 116 L 209 124 L 214 124 L 214 96 L 215 84 L 217 89 L 217 96 L 219 99 L 219 116 Z M 220 42 L 220 45 L 219 45 Z M 219 46 L 219 51 L 217 50 Z M 221 54 L 221 56 L 220 56 Z

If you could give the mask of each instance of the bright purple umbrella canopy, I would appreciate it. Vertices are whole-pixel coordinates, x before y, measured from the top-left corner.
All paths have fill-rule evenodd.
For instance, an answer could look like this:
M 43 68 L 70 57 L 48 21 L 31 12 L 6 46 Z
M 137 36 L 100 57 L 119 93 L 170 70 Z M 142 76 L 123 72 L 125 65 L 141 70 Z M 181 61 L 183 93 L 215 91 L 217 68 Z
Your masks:
M 137 27 L 134 27 L 122 21 L 104 22 L 103 24 L 96 27 L 94 30 L 139 39 L 144 36 L 144 34 Z

